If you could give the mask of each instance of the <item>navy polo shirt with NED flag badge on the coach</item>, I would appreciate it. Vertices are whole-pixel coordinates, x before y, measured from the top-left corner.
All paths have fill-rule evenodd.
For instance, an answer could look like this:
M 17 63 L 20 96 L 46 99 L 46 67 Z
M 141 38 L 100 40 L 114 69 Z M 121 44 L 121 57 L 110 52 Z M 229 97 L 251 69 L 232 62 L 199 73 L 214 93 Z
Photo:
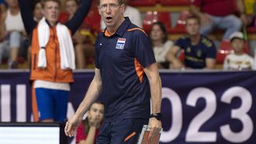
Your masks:
M 154 52 L 148 36 L 137 28 L 126 18 L 115 34 L 105 36 L 100 33 L 96 39 L 95 66 L 102 77 L 106 122 L 150 116 L 149 81 L 146 74 L 140 81 L 135 59 L 141 66 L 147 67 L 155 63 Z

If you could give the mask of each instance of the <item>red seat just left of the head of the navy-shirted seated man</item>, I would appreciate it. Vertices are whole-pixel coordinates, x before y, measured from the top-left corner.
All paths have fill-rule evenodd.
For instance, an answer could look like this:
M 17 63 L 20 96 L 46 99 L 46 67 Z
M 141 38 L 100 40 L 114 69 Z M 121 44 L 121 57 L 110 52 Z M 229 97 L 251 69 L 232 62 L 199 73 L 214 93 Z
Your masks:
M 186 33 L 185 20 L 191 15 L 189 11 L 182 11 L 178 17 L 178 21 L 173 29 L 169 33 Z

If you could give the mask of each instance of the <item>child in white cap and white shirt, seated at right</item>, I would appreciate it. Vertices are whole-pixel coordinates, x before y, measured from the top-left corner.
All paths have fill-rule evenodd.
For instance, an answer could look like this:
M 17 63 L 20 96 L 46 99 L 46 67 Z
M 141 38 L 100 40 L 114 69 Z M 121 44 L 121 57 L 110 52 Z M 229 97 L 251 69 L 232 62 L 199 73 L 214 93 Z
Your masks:
M 230 36 L 230 44 L 234 53 L 230 53 L 225 57 L 224 70 L 255 70 L 254 59 L 244 53 L 244 43 L 243 33 L 235 32 Z

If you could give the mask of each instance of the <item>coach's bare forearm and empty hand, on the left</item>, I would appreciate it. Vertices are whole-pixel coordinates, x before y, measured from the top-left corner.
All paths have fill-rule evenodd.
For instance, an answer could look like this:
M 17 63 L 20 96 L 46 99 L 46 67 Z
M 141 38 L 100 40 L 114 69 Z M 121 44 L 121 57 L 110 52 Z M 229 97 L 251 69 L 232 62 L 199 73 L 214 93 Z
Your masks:
M 74 116 L 70 118 L 65 126 L 65 133 L 67 136 L 74 136 L 78 125 L 81 123 L 82 117 L 85 115 L 85 112 L 88 111 L 92 102 L 95 101 L 99 94 L 102 92 L 102 77 L 100 75 L 100 70 L 95 68 L 95 76 L 90 84 L 85 98 L 81 101 L 81 104 L 78 107 L 78 110 L 75 112 Z

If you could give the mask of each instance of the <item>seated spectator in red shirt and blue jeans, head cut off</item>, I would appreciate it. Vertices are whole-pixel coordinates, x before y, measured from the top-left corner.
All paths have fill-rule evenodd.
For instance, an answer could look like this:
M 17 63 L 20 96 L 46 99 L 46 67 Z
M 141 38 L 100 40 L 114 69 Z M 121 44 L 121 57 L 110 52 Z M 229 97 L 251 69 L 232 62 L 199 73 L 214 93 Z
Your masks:
M 235 15 L 237 9 L 240 17 Z M 232 33 L 241 29 L 243 22 L 247 25 L 243 0 L 194 0 L 190 12 L 200 17 L 202 35 L 208 35 L 216 28 L 224 29 L 223 39 L 229 39 Z

